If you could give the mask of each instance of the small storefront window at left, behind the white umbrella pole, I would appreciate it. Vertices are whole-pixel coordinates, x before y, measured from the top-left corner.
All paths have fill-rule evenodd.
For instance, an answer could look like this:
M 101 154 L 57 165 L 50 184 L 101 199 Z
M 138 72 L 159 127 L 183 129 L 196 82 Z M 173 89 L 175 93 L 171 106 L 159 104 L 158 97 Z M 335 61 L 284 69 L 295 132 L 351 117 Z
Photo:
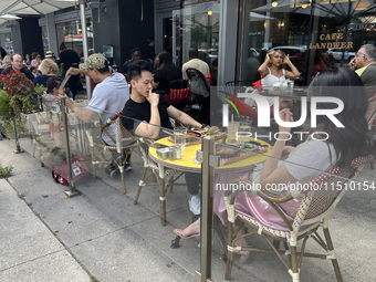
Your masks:
M 86 35 L 88 50 L 94 49 L 92 19 L 86 19 Z M 83 56 L 82 30 L 80 21 L 70 21 L 56 24 L 59 44 L 65 42 L 67 49 L 74 50 Z

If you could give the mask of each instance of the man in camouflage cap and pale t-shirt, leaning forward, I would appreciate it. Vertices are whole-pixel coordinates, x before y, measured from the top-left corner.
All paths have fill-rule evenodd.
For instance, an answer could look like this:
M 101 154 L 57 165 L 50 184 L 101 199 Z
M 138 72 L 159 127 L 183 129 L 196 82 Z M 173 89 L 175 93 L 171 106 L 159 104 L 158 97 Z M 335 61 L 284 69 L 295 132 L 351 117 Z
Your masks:
M 71 101 L 66 102 L 66 106 L 85 123 L 94 121 L 96 115 L 100 115 L 101 124 L 105 124 L 107 119 L 116 112 L 123 109 L 125 103 L 129 98 L 128 84 L 121 73 L 111 73 L 106 58 L 100 53 L 92 54 L 86 62 L 80 64 L 80 69 L 71 67 L 66 75 L 85 74 L 90 76 L 97 85 L 93 91 L 93 96 L 85 108 L 76 107 Z M 106 132 L 116 139 L 115 123 L 111 124 Z M 102 133 L 102 139 L 107 145 L 115 145 L 112 138 Z M 101 158 L 101 156 L 98 156 Z M 104 160 L 104 156 L 102 156 Z M 132 170 L 132 166 L 127 164 L 124 167 L 125 171 Z M 106 173 L 111 176 L 116 171 L 112 164 L 105 167 Z

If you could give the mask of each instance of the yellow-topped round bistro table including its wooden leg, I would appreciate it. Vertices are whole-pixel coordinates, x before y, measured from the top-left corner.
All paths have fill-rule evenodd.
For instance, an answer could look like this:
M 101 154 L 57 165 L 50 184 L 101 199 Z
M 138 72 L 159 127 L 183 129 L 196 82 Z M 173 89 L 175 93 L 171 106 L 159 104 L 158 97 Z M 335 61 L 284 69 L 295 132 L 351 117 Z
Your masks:
M 254 140 L 252 137 L 250 140 Z M 267 159 L 267 156 L 270 155 L 271 147 L 268 143 L 262 142 L 260 139 L 257 140 L 262 146 L 268 146 L 268 152 L 263 153 L 262 155 L 250 154 L 249 156 L 241 156 L 231 159 L 231 164 L 223 165 L 216 169 L 216 174 L 220 173 L 233 173 L 233 171 L 247 171 L 252 169 L 257 164 L 263 163 Z M 174 142 L 168 140 L 167 138 L 161 138 L 156 143 L 174 146 Z M 161 159 L 157 156 L 157 149 L 149 147 L 149 157 L 158 164 L 159 167 L 159 176 L 160 176 L 160 195 L 159 195 L 159 211 L 160 211 L 160 222 L 163 226 L 166 224 L 166 195 L 165 195 L 165 169 L 177 169 L 186 173 L 201 173 L 201 164 L 195 163 L 196 152 L 201 149 L 201 143 L 195 143 L 192 145 L 186 145 L 185 150 L 182 150 L 181 159 L 169 160 L 169 159 Z M 237 160 L 239 159 L 239 160 Z

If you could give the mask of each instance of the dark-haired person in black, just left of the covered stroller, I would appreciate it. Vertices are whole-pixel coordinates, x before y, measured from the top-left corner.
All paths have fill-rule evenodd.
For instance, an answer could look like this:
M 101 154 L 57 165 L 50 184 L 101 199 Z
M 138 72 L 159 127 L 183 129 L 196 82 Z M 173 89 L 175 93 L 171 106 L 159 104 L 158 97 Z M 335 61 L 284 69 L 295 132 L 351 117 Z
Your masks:
M 175 80 L 181 80 L 182 73 L 179 67 L 173 63 L 171 55 L 164 51 L 158 55 L 159 67 L 154 74 L 153 88 L 160 93 L 168 91 L 168 85 Z

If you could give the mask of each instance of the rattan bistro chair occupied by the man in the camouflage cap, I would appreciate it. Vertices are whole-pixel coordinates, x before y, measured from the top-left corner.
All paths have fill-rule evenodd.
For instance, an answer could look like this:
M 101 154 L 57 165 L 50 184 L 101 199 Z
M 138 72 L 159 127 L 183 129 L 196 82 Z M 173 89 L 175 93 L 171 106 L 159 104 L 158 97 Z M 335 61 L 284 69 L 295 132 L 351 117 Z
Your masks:
M 100 122 L 94 123 L 94 125 L 101 127 L 101 132 L 104 132 L 107 134 L 107 136 L 115 143 L 115 146 L 108 146 L 105 144 L 97 144 L 94 143 L 93 138 L 93 132 L 92 129 L 86 130 L 86 136 L 88 139 L 91 153 L 92 153 L 92 164 L 93 164 L 93 176 L 96 177 L 96 165 L 98 164 L 111 164 L 114 163 L 121 173 L 122 176 L 122 187 L 123 192 L 126 194 L 126 186 L 124 180 L 124 166 L 126 164 L 126 160 L 130 153 L 139 153 L 139 140 L 136 138 L 129 130 L 127 130 L 123 124 L 119 117 L 123 111 L 117 112 L 116 114 L 112 115 L 106 124 L 101 124 Z M 107 133 L 106 128 L 115 122 L 115 132 L 116 132 L 116 140 Z M 113 161 L 101 161 L 98 159 L 98 155 L 103 152 L 109 152 L 114 153 L 116 152 L 118 154 L 118 157 L 116 159 L 112 156 Z

